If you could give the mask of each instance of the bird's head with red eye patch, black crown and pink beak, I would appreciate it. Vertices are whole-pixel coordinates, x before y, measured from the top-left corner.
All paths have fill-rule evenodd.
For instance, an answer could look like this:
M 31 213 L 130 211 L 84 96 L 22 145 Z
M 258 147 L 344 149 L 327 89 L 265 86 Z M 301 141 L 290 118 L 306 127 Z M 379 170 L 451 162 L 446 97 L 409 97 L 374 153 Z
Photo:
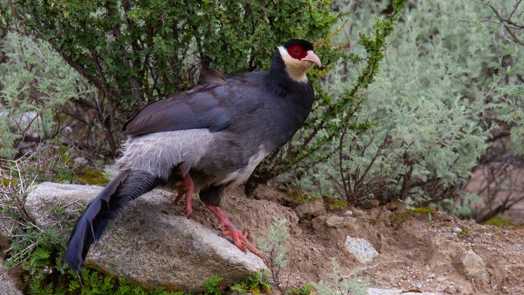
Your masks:
M 286 65 L 286 72 L 291 79 L 307 82 L 305 75 L 315 64 L 322 66 L 320 58 L 313 52 L 313 45 L 305 40 L 291 39 L 279 46 L 280 56 Z

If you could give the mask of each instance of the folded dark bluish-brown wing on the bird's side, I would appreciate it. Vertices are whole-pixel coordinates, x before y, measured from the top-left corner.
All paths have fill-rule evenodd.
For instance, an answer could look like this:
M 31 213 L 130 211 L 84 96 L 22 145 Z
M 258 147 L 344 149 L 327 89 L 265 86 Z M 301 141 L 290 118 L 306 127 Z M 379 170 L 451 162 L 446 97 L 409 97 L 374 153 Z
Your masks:
M 122 128 L 129 135 L 208 128 L 221 131 L 237 115 L 252 113 L 260 103 L 252 79 L 235 76 L 224 83 L 196 87 L 168 99 L 155 101 Z M 258 88 L 259 89 L 259 88 Z

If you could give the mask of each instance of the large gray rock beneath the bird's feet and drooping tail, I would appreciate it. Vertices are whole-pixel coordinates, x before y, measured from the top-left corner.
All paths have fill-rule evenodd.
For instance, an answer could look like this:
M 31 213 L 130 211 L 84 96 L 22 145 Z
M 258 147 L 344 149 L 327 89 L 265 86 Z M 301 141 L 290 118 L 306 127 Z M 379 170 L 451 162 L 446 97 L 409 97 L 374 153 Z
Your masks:
M 41 183 L 27 197 L 27 213 L 42 225 L 57 222 L 51 208 L 61 204 L 75 220 L 102 187 Z M 231 284 L 265 268 L 263 260 L 242 252 L 219 231 L 174 213 L 165 193 L 155 190 L 139 197 L 108 228 L 88 254 L 87 265 L 132 280 L 147 288 L 204 291 L 204 280 L 218 275 Z M 181 207 L 180 205 L 178 207 Z

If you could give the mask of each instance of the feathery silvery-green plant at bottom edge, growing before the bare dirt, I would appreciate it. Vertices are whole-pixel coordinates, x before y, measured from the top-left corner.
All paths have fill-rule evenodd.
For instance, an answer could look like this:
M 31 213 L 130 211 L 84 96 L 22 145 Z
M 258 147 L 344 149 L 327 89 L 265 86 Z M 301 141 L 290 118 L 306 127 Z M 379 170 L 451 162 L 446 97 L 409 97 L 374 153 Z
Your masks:
M 369 287 L 369 277 L 365 276 L 363 279 L 359 277 L 360 271 L 355 270 L 350 276 L 345 276 L 339 269 L 339 262 L 335 258 L 331 259 L 331 273 L 330 278 L 334 286 L 329 282 L 321 280 L 318 283 L 313 283 L 319 295 L 367 295 L 367 288 Z

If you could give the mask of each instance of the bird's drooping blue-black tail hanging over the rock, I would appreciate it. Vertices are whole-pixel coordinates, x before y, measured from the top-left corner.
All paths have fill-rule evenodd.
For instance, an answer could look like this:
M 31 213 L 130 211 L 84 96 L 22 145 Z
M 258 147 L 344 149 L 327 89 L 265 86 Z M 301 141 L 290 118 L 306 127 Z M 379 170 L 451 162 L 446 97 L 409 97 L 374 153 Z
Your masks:
M 85 256 L 94 241 L 100 240 L 105 228 L 122 208 L 133 199 L 160 184 L 158 178 L 143 171 L 121 171 L 89 204 L 74 226 L 65 261 L 82 276 Z

